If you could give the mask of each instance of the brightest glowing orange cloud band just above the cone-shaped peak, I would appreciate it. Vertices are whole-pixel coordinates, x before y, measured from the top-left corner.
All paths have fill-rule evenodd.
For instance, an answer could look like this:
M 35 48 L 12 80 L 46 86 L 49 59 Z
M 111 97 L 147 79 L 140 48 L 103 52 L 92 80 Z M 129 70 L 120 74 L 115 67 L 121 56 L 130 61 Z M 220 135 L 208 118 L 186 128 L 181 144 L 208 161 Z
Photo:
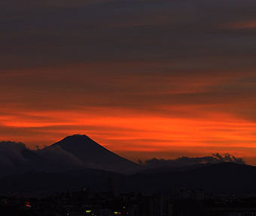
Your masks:
M 114 115 L 114 110 L 110 108 L 94 109 L 96 112 L 30 111 L 20 113 L 20 116 L 2 118 L 1 125 L 27 130 L 28 133 L 24 133 L 26 136 L 20 136 L 19 140 L 29 142 L 30 145 L 41 145 L 41 140 L 44 144 L 50 144 L 71 133 L 87 133 L 105 147 L 134 160 L 133 154 L 138 158 L 138 152 L 142 158 L 150 155 L 174 157 L 172 151 L 180 152 L 178 155 L 191 155 L 192 152 L 192 155 L 211 154 L 220 149 L 239 156 L 251 155 L 250 148 L 254 148 L 256 142 L 256 123 L 229 114 L 212 113 L 203 118 L 164 118 L 126 113 L 128 110 L 123 110 L 122 115 Z M 193 107 L 187 109 L 192 110 Z M 105 112 L 101 114 L 102 110 Z M 44 121 L 44 118 L 53 116 L 53 121 Z M 31 137 L 39 135 L 29 139 L 29 134 Z M 1 137 L 4 136 L 2 133 Z M 233 148 L 236 150 L 233 151 Z

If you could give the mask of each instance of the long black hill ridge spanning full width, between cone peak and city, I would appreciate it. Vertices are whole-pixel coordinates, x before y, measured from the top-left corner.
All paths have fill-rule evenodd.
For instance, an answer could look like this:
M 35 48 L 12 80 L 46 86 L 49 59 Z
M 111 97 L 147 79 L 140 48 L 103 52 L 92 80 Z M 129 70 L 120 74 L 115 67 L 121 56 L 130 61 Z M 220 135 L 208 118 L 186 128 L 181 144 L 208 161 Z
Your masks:
M 168 193 L 180 188 L 201 188 L 214 193 L 256 192 L 256 167 L 236 163 L 211 164 L 185 171 L 123 175 L 99 169 L 78 169 L 62 173 L 28 172 L 0 178 L 0 193 L 11 191 L 64 191 L 89 188 L 109 191 L 109 182 L 120 192 Z

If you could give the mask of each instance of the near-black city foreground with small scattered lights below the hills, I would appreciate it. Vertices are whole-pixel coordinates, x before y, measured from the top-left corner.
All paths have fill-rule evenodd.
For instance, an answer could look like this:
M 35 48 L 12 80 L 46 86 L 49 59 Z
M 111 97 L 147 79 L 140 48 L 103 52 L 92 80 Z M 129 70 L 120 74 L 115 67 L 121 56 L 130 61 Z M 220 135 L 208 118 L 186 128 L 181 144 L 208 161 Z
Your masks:
M 56 193 L 44 198 L 1 196 L 0 215 L 17 216 L 253 216 L 256 196 L 206 194 L 182 189 L 176 193 L 76 192 Z

